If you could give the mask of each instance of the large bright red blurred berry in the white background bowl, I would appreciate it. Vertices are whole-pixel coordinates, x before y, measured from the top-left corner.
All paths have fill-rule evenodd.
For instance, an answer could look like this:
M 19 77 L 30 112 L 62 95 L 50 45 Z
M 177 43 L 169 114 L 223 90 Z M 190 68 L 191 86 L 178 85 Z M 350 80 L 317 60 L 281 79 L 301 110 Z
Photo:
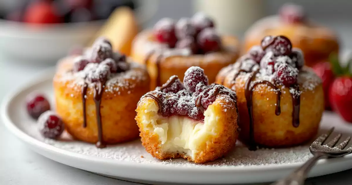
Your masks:
M 30 4 L 24 13 L 24 21 L 37 24 L 62 22 L 55 7 L 48 1 L 34 1 Z

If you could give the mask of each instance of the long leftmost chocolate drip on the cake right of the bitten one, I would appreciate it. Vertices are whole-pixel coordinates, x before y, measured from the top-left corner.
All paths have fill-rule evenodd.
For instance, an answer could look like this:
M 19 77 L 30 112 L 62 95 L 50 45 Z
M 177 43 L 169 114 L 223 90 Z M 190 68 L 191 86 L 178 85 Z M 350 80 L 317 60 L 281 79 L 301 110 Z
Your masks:
M 253 103 L 252 103 L 252 91 L 251 91 L 251 82 L 256 78 L 256 74 L 259 72 L 259 69 L 254 71 L 245 84 L 245 97 L 247 101 L 247 109 L 249 114 L 249 149 L 256 150 L 256 142 L 254 140 L 254 129 L 253 129 Z

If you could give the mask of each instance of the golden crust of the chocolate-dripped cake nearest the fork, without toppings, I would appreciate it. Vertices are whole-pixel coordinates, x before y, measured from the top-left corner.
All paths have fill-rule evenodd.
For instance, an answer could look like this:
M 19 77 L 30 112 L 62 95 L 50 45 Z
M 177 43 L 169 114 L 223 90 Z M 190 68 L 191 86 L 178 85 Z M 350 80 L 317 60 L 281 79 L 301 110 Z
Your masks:
M 217 83 L 231 76 L 219 73 Z M 245 80 L 237 78 L 235 84 L 225 80 L 224 86 L 232 88 L 237 94 L 237 105 L 241 119 L 239 121 L 240 140 L 249 140 L 250 118 L 245 98 Z M 282 87 L 278 87 L 282 89 Z M 301 88 L 302 89 L 302 88 Z M 289 88 L 281 90 L 281 114 L 275 115 L 276 92 L 271 87 L 258 85 L 253 90 L 254 139 L 259 145 L 267 147 L 287 147 L 302 144 L 316 135 L 324 111 L 323 90 L 320 83 L 313 90 L 303 90 L 300 104 L 300 125 L 292 124 L 292 98 Z

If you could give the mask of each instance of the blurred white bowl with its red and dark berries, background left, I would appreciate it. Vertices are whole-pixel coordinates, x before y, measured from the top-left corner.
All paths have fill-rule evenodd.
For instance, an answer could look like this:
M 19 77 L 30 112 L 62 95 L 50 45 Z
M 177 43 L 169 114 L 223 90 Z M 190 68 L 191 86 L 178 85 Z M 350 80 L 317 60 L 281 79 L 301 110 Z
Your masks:
M 85 47 L 117 7 L 139 13 L 134 0 L 27 0 L 1 10 L 15 1 L 0 2 L 0 55 L 31 64 L 53 64 L 75 46 Z

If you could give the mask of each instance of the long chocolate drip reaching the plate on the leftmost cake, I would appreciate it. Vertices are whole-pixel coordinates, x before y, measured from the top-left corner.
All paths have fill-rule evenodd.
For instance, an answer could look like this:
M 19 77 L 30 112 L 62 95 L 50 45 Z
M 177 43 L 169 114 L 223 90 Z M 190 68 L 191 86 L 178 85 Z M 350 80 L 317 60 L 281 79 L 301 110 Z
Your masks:
M 103 140 L 103 130 L 102 130 L 101 112 L 100 112 L 101 97 L 103 94 L 104 85 L 105 85 L 105 82 L 98 82 L 94 88 L 96 124 L 98 125 L 98 142 L 95 144 L 95 146 L 98 148 L 105 148 L 106 147 L 106 144 Z

